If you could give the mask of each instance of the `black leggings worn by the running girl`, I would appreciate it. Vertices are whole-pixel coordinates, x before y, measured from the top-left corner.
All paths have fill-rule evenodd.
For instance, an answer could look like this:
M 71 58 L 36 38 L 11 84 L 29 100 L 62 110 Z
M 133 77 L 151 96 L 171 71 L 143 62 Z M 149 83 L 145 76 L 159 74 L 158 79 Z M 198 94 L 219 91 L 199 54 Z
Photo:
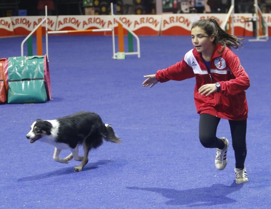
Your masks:
M 216 130 L 220 118 L 209 114 L 200 115 L 199 138 L 200 143 L 206 148 L 223 149 L 225 144 L 216 137 Z M 244 168 L 246 159 L 246 120 L 229 120 L 232 134 L 232 147 L 235 153 L 235 167 Z

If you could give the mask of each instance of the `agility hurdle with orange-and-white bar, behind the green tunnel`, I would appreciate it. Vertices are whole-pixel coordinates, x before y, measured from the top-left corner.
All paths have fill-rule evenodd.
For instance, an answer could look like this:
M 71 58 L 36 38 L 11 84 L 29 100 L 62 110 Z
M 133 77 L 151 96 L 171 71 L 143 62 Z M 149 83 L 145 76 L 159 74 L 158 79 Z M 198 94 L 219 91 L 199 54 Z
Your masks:
M 91 29 L 91 30 L 59 30 L 59 31 L 48 31 L 48 18 L 47 18 L 47 6 L 45 6 L 45 18 L 31 31 L 31 33 L 22 41 L 21 44 L 21 56 L 24 56 L 23 45 L 27 41 L 27 52 L 28 56 L 33 55 L 32 49 L 32 34 L 36 32 L 37 35 L 37 55 L 42 55 L 42 24 L 45 22 L 45 36 L 46 36 L 46 55 L 49 62 L 49 50 L 48 50 L 48 34 L 61 34 L 61 33 L 82 33 L 82 32 L 110 32 L 112 33 L 112 48 L 113 48 L 113 59 L 125 59 L 126 55 L 137 55 L 140 58 L 140 41 L 138 36 L 123 24 L 120 19 L 113 14 L 113 4 L 111 3 L 111 17 L 112 17 L 112 28 L 105 29 Z M 116 52 L 115 48 L 115 33 L 114 33 L 114 19 L 118 22 L 118 47 L 119 52 Z M 124 32 L 123 28 L 128 31 L 128 52 L 124 51 Z M 137 41 L 137 51 L 134 51 L 133 37 Z

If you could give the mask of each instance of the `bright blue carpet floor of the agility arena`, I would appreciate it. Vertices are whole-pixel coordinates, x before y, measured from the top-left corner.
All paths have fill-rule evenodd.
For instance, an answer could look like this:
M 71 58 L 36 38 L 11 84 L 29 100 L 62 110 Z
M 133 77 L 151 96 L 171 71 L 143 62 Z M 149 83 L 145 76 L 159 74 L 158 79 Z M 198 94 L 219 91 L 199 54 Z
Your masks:
M 0 39 L 0 58 L 20 56 L 24 38 Z M 245 185 L 235 184 L 227 120 L 217 132 L 230 141 L 223 171 L 215 169 L 216 150 L 199 142 L 194 78 L 142 86 L 143 75 L 183 58 L 192 48 L 189 36 L 141 36 L 142 57 L 125 60 L 111 58 L 111 41 L 49 36 L 53 100 L 0 105 L 0 208 L 270 208 L 271 41 L 243 41 L 234 50 L 251 82 Z M 55 162 L 53 147 L 30 144 L 25 135 L 37 118 L 80 110 L 98 113 L 123 143 L 92 150 L 83 171 L 75 173 L 78 162 Z M 61 156 L 68 154 L 63 150 Z

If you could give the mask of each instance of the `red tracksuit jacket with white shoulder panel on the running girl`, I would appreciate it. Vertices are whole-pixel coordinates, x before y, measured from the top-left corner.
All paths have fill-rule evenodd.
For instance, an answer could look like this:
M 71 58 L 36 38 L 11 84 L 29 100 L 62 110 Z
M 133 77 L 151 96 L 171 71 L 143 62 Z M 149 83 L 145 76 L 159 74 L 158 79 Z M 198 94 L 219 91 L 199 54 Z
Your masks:
M 208 113 L 229 120 L 247 119 L 248 107 L 245 90 L 249 87 L 249 77 L 242 67 L 238 56 L 226 47 L 219 54 L 222 45 L 216 44 L 207 70 L 201 54 L 194 48 L 186 53 L 181 62 L 158 70 L 155 74 L 159 82 L 181 81 L 195 77 L 194 91 L 197 113 Z M 204 96 L 198 89 L 204 84 L 219 82 L 219 92 Z

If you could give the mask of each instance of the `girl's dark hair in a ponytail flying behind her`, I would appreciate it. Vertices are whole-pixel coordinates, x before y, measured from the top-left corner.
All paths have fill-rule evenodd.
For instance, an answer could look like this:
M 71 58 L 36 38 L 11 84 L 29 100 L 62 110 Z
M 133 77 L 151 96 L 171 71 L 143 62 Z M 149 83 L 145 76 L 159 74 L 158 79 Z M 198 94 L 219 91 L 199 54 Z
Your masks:
M 217 18 L 198 20 L 192 24 L 192 28 L 200 27 L 201 29 L 205 30 L 208 36 L 215 34 L 214 44 L 219 43 L 223 45 L 222 50 L 218 51 L 218 53 L 222 53 L 226 46 L 229 48 L 233 47 L 235 49 L 237 49 L 239 46 L 242 46 L 242 43 L 239 42 L 238 40 L 244 40 L 244 39 L 239 39 L 236 36 L 230 35 L 229 33 L 225 32 L 219 26 L 216 20 Z

